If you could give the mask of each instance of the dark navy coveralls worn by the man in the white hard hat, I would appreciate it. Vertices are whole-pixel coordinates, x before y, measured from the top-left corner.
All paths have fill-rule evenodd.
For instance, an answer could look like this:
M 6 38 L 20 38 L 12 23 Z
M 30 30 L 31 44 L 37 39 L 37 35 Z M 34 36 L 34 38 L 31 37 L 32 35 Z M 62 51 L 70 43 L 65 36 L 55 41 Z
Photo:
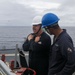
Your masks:
M 29 67 L 34 69 L 37 75 L 48 75 L 51 39 L 45 32 L 41 34 L 38 42 L 34 41 L 35 37 L 24 42 L 23 50 L 29 51 Z

